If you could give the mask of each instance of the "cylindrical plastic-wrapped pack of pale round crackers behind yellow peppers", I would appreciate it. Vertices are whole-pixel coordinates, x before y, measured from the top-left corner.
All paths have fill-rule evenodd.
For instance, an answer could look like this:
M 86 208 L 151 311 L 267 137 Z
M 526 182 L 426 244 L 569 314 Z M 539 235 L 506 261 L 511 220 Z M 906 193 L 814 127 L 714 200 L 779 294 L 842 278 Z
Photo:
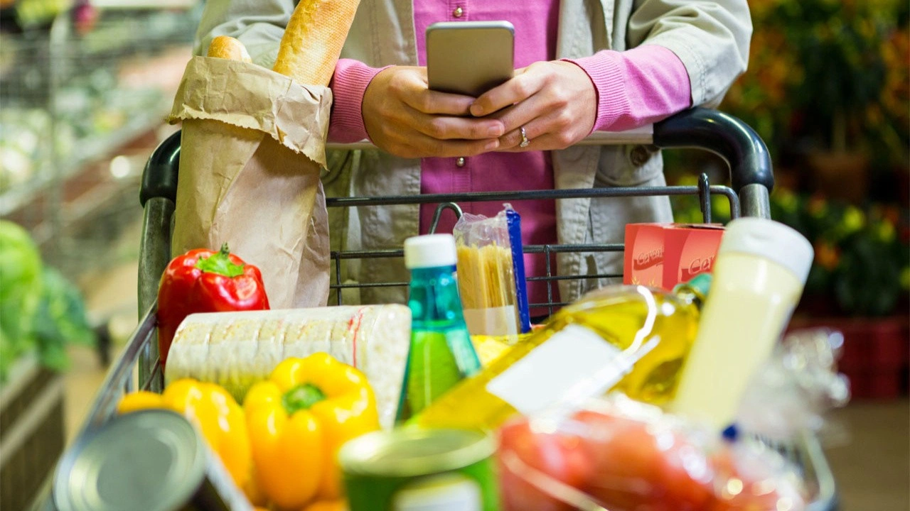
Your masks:
M 216 383 L 243 403 L 249 387 L 268 378 L 284 359 L 328 353 L 367 376 L 380 424 L 391 427 L 409 348 L 407 306 L 195 314 L 177 328 L 165 382 L 188 377 Z

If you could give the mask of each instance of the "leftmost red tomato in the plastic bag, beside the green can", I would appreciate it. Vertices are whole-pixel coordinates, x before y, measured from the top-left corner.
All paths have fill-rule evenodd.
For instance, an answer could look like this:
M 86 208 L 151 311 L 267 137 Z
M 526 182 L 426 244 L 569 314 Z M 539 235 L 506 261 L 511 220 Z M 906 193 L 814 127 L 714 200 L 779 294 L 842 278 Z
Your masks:
M 579 488 L 591 478 L 591 457 L 581 448 L 578 436 L 531 430 L 527 420 L 513 422 L 500 430 L 498 462 L 503 509 L 506 511 L 563 511 L 572 506 L 545 494 L 521 475 L 521 463 L 566 485 Z

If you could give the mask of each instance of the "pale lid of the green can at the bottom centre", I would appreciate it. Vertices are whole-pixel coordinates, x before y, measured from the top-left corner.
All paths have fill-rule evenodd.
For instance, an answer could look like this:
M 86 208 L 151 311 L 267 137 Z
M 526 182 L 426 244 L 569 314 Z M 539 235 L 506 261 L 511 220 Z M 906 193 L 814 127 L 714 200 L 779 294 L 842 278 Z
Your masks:
M 351 440 L 341 447 L 339 463 L 348 474 L 427 476 L 470 466 L 495 449 L 480 431 L 404 427 Z

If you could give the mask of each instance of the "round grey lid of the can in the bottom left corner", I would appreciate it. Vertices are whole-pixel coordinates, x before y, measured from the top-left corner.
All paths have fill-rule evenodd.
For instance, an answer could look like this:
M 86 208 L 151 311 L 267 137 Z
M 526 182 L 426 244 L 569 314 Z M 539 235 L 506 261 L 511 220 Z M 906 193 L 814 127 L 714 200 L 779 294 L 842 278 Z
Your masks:
M 181 509 L 206 476 L 207 446 L 186 418 L 167 410 L 117 416 L 76 441 L 60 460 L 60 511 Z

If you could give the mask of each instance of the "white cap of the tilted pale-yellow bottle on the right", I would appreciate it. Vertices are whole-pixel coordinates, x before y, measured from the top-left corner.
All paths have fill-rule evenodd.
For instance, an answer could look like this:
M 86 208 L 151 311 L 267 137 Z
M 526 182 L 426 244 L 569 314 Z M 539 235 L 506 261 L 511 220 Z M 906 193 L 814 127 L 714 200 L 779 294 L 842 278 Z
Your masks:
M 727 224 L 718 256 L 737 252 L 763 257 L 784 266 L 805 284 L 814 250 L 794 228 L 765 218 L 743 217 Z

